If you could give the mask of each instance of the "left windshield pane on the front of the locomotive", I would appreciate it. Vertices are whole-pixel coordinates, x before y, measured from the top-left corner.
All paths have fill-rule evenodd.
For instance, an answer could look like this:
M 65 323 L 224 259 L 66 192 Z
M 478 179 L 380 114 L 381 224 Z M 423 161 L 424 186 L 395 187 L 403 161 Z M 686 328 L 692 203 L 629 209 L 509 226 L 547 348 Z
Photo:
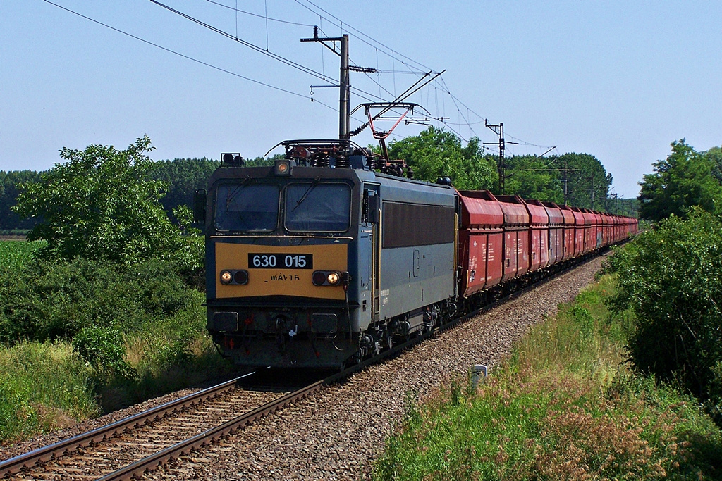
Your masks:
M 278 225 L 279 187 L 223 184 L 216 193 L 218 231 L 273 231 Z

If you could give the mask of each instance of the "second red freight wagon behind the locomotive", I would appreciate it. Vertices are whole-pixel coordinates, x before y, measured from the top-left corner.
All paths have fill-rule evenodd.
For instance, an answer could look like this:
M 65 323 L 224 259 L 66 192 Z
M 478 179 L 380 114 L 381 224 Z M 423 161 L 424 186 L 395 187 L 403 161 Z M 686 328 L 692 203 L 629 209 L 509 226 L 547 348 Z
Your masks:
M 529 271 L 529 212 L 518 195 L 497 196 L 504 213 L 504 265 L 502 281 Z

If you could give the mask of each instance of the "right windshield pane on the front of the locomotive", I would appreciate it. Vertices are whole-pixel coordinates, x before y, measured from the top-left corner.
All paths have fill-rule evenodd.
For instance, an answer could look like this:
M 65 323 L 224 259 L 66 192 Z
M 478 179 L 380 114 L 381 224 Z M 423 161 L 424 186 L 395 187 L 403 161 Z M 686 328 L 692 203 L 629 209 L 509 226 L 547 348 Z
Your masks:
M 346 184 L 292 183 L 286 187 L 286 229 L 345 232 L 351 215 L 351 187 Z

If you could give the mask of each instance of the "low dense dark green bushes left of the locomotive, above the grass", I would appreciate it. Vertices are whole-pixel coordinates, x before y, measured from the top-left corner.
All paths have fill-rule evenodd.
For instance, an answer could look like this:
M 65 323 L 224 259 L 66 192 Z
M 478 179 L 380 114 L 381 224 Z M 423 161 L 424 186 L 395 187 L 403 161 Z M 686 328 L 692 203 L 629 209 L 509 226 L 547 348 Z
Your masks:
M 86 327 L 127 334 L 185 310 L 202 318 L 201 297 L 161 260 L 126 267 L 78 258 L 0 269 L 0 343 L 70 340 Z

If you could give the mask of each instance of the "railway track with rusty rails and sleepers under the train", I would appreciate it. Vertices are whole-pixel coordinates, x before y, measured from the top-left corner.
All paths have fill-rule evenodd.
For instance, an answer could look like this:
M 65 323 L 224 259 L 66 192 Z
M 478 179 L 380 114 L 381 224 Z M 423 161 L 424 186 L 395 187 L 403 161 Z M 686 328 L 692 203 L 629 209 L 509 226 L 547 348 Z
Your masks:
M 569 265 L 549 277 L 553 278 L 573 267 Z M 251 376 L 258 374 L 253 371 L 103 428 L 7 459 L 0 462 L 0 479 L 56 479 L 58 475 L 65 475 L 74 479 L 130 480 L 170 459 L 223 438 L 271 412 L 282 410 L 292 402 L 365 369 L 370 364 L 396 356 L 427 337 L 489 312 L 543 282 L 521 288 L 477 311 L 383 351 L 380 356 L 300 389 L 286 389 L 285 392 L 267 387 L 262 390 L 242 389 Z M 229 414 L 239 411 L 242 413 L 235 417 Z M 179 438 L 182 441 L 175 442 Z

